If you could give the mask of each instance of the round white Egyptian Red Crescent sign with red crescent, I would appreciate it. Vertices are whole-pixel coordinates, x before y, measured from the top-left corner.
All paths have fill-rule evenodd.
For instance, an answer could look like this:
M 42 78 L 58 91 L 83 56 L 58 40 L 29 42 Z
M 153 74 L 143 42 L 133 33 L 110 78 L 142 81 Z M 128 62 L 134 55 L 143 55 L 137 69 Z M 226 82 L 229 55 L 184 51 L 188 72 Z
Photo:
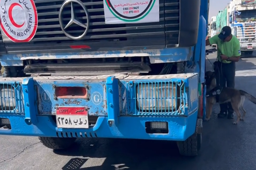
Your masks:
M 29 42 L 35 36 L 38 19 L 34 0 L 0 0 L 1 28 L 13 42 Z

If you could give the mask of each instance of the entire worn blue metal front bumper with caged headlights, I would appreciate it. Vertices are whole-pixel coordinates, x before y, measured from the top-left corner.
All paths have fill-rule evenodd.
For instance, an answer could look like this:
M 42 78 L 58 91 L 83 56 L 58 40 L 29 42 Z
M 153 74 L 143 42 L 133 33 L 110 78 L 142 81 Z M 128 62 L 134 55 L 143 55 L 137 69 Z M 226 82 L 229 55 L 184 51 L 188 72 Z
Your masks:
M 94 78 L 92 76 L 80 76 L 77 79 L 73 77 L 74 80 L 72 81 L 65 77 L 54 76 L 48 76 L 48 78 L 0 78 L 0 109 L 2 107 L 0 119 L 9 119 L 11 125 L 11 129 L 0 129 L 0 134 L 46 137 L 186 140 L 195 132 L 198 114 L 197 74 L 163 75 L 158 77 L 120 77 L 119 75 L 101 77 L 99 80 Z M 176 88 L 173 84 L 175 84 Z M 158 108 L 153 108 L 152 106 L 151 111 L 136 107 L 140 105 L 140 100 L 142 103 L 144 100 L 149 100 L 148 103 L 153 103 L 153 101 L 156 103 L 155 100 L 157 100 L 156 97 L 153 98 L 150 95 L 149 99 L 139 99 L 139 97 L 136 97 L 136 88 L 139 89 L 140 85 L 142 85 L 141 90 L 145 90 L 145 93 L 149 93 L 147 90 L 151 87 L 152 91 L 149 94 L 151 95 L 152 93 L 152 96 L 153 89 L 156 89 L 156 86 L 157 89 L 162 89 L 161 95 L 162 93 L 166 95 L 170 93 L 169 91 L 167 93 L 166 89 L 175 89 L 176 91 L 171 91 L 171 93 L 175 93 L 176 96 L 172 94 L 170 99 L 174 100 L 176 105 L 180 105 L 180 109 L 173 110 L 173 106 L 168 106 L 167 108 L 165 104 L 165 106 L 161 106 L 162 110 L 160 111 L 159 101 Z M 143 85 L 145 86 L 143 87 Z M 92 110 L 89 116 L 98 117 L 94 126 L 88 129 L 57 127 L 56 120 L 54 121 L 56 114 L 54 108 L 55 106 L 67 105 L 67 103 L 63 102 L 67 99 L 57 99 L 55 95 L 55 88 L 58 86 L 87 87 L 89 95 L 86 98 L 77 99 L 76 101 L 79 102 L 73 102 L 68 105 L 89 107 Z M 8 93 L 2 94 L 4 87 L 7 87 L 5 88 L 6 92 L 13 89 L 15 93 L 12 94 L 8 91 Z M 163 89 L 162 87 L 165 88 Z M 101 101 L 99 103 L 96 103 L 96 98 L 93 98 L 93 94 L 96 92 L 101 96 L 101 98 L 97 98 L 101 99 L 97 100 Z M 157 93 L 158 98 L 160 98 L 159 91 Z M 7 94 L 8 96 L 3 96 Z M 15 104 L 15 108 L 3 108 L 3 102 L 5 102 L 4 106 L 6 106 L 6 103 L 10 103 L 10 99 Z M 161 99 L 158 100 L 163 99 L 166 100 L 168 98 L 161 96 Z M 168 122 L 168 133 L 146 133 L 146 122 Z

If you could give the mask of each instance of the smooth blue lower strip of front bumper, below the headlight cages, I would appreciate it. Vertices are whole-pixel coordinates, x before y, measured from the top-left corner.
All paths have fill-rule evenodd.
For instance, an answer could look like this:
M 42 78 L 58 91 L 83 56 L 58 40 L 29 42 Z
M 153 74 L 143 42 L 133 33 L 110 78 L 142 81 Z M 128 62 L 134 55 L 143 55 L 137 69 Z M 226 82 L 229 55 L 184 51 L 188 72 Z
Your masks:
M 37 125 L 28 125 L 25 115 L 0 115 L 7 118 L 11 129 L 0 129 L 1 135 L 45 136 L 45 137 L 78 137 L 78 138 L 125 138 L 155 140 L 186 140 L 196 128 L 197 111 L 189 116 L 146 117 L 120 116 L 118 124 L 108 124 L 108 118 L 100 116 L 93 127 L 88 129 L 57 128 L 52 116 L 37 116 Z M 145 122 L 168 122 L 168 133 L 146 133 Z

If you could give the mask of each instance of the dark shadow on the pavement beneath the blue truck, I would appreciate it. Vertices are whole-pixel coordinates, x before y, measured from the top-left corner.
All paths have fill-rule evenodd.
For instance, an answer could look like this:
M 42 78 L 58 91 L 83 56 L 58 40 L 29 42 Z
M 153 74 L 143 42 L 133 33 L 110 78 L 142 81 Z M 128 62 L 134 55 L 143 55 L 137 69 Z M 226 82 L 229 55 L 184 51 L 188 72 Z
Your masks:
M 59 155 L 82 156 L 72 158 L 62 168 L 79 170 L 159 170 L 168 167 L 179 167 L 184 161 L 195 160 L 179 155 L 176 143 L 173 141 L 135 140 L 135 139 L 95 139 L 91 141 L 80 140 L 73 149 L 67 151 L 54 151 Z M 86 145 L 83 145 L 87 143 Z M 96 150 L 99 150 L 96 151 Z M 98 167 L 81 168 L 90 158 L 106 158 Z

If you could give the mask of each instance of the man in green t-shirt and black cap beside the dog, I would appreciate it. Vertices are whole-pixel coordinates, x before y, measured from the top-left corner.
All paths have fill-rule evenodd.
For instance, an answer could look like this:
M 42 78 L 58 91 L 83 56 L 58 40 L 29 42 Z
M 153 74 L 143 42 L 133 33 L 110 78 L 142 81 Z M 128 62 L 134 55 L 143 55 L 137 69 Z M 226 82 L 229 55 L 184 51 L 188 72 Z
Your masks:
M 237 37 L 233 36 L 229 26 L 224 26 L 218 35 L 206 40 L 206 46 L 217 44 L 217 61 L 214 63 L 216 84 L 220 87 L 235 88 L 235 62 L 238 62 L 241 55 L 240 43 Z M 220 104 L 218 117 L 228 119 L 234 118 L 234 110 L 231 103 Z

